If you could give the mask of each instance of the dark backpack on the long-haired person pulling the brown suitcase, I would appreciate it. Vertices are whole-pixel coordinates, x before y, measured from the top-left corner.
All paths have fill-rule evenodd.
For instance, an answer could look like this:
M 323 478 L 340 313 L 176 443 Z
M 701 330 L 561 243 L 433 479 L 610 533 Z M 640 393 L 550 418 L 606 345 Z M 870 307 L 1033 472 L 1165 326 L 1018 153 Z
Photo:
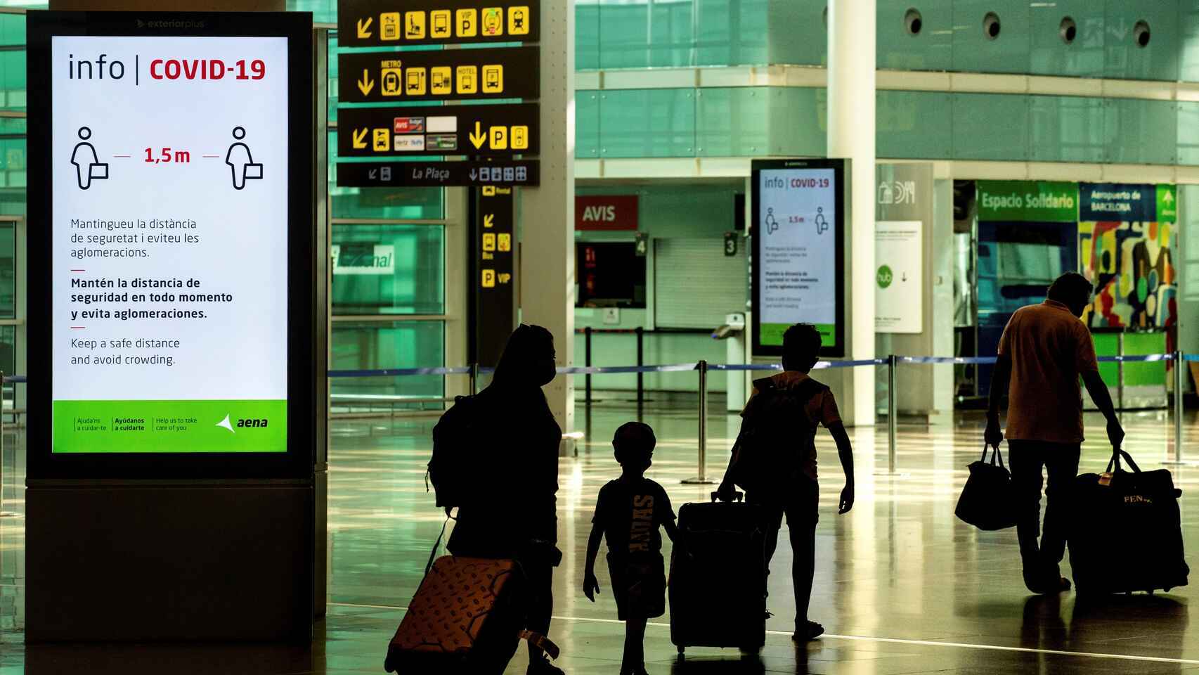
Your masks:
M 478 447 L 480 427 L 480 404 L 474 396 L 456 398 L 433 427 L 433 458 L 426 478 L 442 508 L 462 506 L 463 499 L 476 492 L 478 470 L 471 454 Z

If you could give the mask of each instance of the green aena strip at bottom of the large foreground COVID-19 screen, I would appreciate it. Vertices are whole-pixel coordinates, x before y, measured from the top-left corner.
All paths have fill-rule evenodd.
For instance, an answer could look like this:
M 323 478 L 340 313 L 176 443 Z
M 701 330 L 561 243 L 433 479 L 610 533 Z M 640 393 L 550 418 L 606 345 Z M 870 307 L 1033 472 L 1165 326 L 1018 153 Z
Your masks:
M 287 400 L 55 400 L 53 452 L 287 452 Z

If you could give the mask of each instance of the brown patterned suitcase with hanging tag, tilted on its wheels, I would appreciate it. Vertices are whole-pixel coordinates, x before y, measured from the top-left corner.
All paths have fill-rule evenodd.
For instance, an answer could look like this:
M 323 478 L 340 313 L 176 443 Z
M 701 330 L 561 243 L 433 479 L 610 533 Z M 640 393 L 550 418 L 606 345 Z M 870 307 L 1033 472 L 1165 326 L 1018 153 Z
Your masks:
M 399 675 L 499 675 L 520 639 L 558 658 L 544 635 L 524 631 L 524 577 L 512 560 L 444 556 L 426 572 L 384 669 Z

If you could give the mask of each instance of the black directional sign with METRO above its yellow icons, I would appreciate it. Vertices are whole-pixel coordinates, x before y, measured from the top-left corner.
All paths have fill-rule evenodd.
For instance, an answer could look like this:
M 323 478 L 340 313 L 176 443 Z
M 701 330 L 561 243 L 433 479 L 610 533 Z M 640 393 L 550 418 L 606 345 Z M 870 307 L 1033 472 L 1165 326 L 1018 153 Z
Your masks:
M 538 47 L 351 53 L 338 56 L 342 103 L 537 98 Z

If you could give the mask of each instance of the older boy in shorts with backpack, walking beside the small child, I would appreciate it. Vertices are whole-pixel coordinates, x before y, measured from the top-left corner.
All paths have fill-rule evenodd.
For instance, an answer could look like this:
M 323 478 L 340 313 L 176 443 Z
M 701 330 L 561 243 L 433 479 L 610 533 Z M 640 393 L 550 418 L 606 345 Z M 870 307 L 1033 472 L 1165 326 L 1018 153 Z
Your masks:
M 832 392 L 808 376 L 820 358 L 820 332 L 811 324 L 797 324 L 783 333 L 783 372 L 754 382 L 753 396 L 741 414 L 741 434 L 718 489 L 721 499 L 730 501 L 736 492 L 734 486 L 741 486 L 746 500 L 763 507 L 766 574 L 787 516 L 795 585 L 791 639 L 796 643 L 824 634 L 824 626 L 808 620 L 820 506 L 815 435 L 821 424 L 837 442 L 845 471 L 837 512 L 848 513 L 854 507 L 854 451 L 849 434 Z

